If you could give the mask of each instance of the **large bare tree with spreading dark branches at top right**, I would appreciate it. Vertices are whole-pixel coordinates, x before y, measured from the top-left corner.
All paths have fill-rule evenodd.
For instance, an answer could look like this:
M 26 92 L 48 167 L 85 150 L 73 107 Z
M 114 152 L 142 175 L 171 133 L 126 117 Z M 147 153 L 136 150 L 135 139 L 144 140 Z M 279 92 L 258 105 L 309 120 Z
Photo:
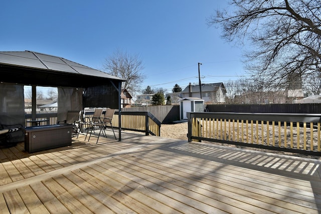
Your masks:
M 321 73 L 320 0 L 231 0 L 230 6 L 210 17 L 208 25 L 223 27 L 229 42 L 254 45 L 245 53 L 253 77 L 284 88 L 290 74 Z

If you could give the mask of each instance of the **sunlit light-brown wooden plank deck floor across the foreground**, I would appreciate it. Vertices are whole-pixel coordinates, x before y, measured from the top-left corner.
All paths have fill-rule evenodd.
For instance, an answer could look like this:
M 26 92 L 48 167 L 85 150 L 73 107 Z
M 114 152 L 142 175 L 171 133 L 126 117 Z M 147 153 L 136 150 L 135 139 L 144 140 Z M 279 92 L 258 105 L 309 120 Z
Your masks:
M 319 160 L 123 134 L 0 150 L 1 213 L 319 213 Z

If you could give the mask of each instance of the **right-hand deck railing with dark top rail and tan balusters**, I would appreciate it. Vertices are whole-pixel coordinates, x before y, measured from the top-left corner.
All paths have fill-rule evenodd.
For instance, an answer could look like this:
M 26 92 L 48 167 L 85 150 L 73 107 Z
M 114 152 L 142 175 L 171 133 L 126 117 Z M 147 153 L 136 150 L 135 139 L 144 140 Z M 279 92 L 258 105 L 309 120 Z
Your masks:
M 188 113 L 188 140 L 321 156 L 321 114 Z

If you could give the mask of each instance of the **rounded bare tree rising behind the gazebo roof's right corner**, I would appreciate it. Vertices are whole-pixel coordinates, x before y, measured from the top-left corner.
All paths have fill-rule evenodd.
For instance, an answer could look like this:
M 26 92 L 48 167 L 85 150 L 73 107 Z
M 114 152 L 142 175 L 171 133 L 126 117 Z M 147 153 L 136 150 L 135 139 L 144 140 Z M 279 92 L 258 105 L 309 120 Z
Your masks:
M 108 74 L 127 80 L 122 83 L 122 88 L 127 89 L 132 94 L 140 90 L 140 84 L 145 78 L 145 75 L 141 72 L 144 67 L 139 56 L 120 50 L 116 50 L 105 59 L 103 69 Z

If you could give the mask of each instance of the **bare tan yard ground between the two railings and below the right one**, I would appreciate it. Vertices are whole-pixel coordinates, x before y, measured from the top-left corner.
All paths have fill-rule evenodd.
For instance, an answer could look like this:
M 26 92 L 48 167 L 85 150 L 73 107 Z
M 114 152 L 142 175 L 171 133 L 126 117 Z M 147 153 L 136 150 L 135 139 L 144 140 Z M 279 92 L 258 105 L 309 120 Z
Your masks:
M 188 140 L 187 133 L 188 133 L 187 122 L 176 123 L 176 124 L 162 124 L 161 125 L 161 137 L 172 138 L 172 139 L 180 139 L 180 140 Z M 224 144 L 223 143 L 215 143 L 215 142 L 210 142 L 210 143 L 217 144 L 217 145 L 224 145 L 224 146 L 252 149 L 252 150 L 256 150 L 256 151 L 265 151 L 265 152 L 270 152 L 270 153 L 285 154 L 285 155 L 291 155 L 291 156 L 300 156 L 300 157 L 306 157 L 306 158 L 320 159 L 321 160 L 320 156 L 303 155 L 303 154 L 297 154 L 297 153 L 291 153 L 291 152 L 266 150 L 266 149 L 246 147 L 246 146 L 236 146 L 236 145 L 226 144 L 226 143 L 224 143 Z

